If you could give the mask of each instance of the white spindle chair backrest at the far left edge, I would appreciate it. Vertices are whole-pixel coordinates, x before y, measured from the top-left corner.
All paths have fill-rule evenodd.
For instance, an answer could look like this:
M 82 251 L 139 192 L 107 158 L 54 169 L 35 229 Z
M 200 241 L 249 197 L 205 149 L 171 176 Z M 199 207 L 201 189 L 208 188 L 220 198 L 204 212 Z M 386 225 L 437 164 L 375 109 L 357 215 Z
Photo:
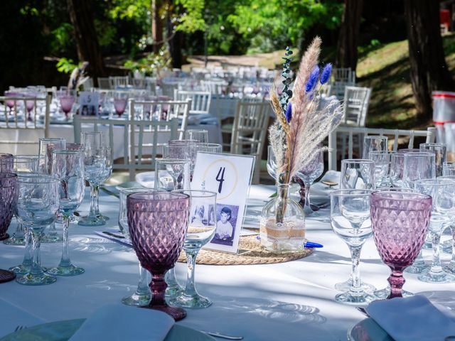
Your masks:
M 38 146 L 38 138 L 49 137 L 51 100 L 50 94 L 45 98 L 0 97 L 0 145 L 9 145 L 2 148 L 5 152 L 24 153 L 21 145 Z

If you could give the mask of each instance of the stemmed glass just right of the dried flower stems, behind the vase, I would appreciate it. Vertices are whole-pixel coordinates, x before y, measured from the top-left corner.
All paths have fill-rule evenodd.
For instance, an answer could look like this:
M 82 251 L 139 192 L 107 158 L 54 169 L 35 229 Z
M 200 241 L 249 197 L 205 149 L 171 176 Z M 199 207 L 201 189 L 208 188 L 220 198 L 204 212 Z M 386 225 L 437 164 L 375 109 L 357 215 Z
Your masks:
M 304 184 L 303 190 L 300 190 L 300 196 L 304 194 L 304 212 L 306 216 L 314 216 L 317 217 L 319 215 L 318 212 L 314 211 L 311 208 L 310 202 L 310 186 L 314 183 L 314 180 L 319 178 L 324 171 L 324 161 L 323 161 L 323 153 L 318 153 L 310 163 L 302 168 L 300 171 L 297 172 L 295 180 L 299 183 L 300 187 L 302 187 L 302 183 Z M 302 193 L 304 192 L 304 193 Z M 301 201 L 301 200 L 300 200 Z

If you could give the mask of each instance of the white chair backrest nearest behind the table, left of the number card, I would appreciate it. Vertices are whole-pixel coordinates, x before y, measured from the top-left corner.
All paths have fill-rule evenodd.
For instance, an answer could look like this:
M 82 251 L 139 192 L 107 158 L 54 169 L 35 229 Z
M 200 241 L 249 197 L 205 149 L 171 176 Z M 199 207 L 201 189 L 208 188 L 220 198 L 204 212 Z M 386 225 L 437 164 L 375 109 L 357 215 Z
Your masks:
M 73 120 L 74 139 L 80 143 L 80 132 L 87 127 L 90 131 L 103 131 L 109 138 L 112 154 L 122 155 L 122 162 L 112 164 L 113 170 L 129 172 L 129 180 L 134 180 L 137 170 L 153 170 L 156 156 L 162 156 L 161 141 L 176 139 L 178 119 L 169 121 L 137 121 L 133 119 L 99 119 L 75 115 Z M 163 137 L 163 135 L 166 136 Z M 114 139 L 123 136 L 122 152 L 114 150 Z M 161 138 L 160 138 L 161 136 Z

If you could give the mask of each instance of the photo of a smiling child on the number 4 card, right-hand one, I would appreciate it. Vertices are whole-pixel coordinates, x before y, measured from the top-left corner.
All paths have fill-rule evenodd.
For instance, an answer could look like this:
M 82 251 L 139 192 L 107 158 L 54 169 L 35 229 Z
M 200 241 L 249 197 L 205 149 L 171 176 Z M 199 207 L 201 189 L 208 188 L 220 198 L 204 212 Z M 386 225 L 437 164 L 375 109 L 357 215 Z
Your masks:
M 216 230 L 212 243 L 232 246 L 237 224 L 239 207 L 233 205 L 217 205 Z

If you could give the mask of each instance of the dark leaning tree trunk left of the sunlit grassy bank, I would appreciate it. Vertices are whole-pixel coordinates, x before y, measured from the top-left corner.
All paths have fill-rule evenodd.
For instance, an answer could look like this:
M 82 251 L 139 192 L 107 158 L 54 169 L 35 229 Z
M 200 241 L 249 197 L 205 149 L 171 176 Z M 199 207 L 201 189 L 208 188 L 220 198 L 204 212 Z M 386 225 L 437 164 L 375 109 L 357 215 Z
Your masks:
M 357 67 L 357 45 L 363 0 L 345 0 L 336 53 L 337 67 Z

